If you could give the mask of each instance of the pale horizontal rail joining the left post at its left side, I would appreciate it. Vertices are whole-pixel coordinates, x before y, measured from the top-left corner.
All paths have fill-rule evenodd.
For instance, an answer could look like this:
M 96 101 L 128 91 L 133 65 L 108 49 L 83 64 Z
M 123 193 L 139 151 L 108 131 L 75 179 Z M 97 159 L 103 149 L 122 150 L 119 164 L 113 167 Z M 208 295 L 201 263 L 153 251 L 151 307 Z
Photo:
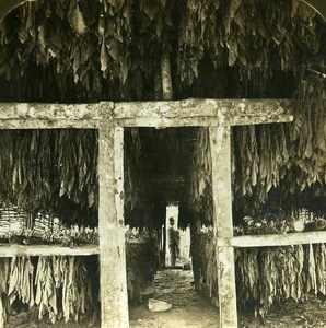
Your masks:
M 98 255 L 97 245 L 63 247 L 59 245 L 15 245 L 0 244 L 0 257 L 15 256 L 89 256 Z

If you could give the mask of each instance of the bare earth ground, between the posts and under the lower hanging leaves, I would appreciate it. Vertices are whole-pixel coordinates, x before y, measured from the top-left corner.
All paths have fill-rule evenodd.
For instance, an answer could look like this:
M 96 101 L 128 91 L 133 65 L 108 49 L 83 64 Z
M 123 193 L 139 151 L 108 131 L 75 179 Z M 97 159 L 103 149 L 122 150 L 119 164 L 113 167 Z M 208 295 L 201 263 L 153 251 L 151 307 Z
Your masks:
M 198 294 L 190 284 L 191 271 L 165 270 L 159 271 L 151 293 L 147 297 L 170 302 L 172 309 L 163 313 L 152 313 L 148 309 L 147 300 L 138 306 L 130 306 L 130 328 L 218 328 L 218 308 Z M 7 328 L 77 328 L 100 327 L 86 324 L 50 324 L 38 321 L 35 314 L 20 314 L 11 318 Z M 264 320 L 253 314 L 240 314 L 241 328 L 326 328 L 326 302 L 312 297 L 305 303 L 287 302 Z

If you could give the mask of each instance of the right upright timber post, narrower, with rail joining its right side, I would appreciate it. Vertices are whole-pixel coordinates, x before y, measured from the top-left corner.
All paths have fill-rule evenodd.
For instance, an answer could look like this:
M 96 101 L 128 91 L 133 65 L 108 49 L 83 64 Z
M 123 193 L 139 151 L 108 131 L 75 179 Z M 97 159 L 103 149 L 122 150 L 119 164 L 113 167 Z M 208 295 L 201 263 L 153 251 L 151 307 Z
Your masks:
M 230 127 L 209 128 L 212 159 L 214 245 L 218 268 L 220 328 L 236 328 L 234 249 L 225 246 L 233 236 Z M 226 242 L 226 243 L 225 243 Z

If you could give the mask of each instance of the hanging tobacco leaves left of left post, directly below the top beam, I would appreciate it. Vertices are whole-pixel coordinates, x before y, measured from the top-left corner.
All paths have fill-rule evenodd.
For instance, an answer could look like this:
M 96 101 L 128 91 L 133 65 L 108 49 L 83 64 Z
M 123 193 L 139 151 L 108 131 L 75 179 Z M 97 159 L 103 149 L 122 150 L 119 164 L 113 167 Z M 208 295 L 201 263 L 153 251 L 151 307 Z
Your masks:
M 25 210 L 61 212 L 70 223 L 77 218 L 67 215 L 79 216 L 81 224 L 83 211 L 85 215 L 96 212 L 95 130 L 2 130 L 0 134 L 2 201 L 16 203 Z M 65 212 L 66 200 L 75 204 L 75 213 Z

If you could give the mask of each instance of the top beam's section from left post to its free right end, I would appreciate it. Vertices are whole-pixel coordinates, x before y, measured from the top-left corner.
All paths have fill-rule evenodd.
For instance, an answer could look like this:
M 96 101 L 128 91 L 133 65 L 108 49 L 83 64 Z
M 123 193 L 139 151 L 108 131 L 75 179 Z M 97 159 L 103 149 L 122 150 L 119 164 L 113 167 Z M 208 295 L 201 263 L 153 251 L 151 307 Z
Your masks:
M 116 103 L 118 126 L 218 126 L 289 122 L 293 120 L 287 99 L 186 99 L 176 102 Z

